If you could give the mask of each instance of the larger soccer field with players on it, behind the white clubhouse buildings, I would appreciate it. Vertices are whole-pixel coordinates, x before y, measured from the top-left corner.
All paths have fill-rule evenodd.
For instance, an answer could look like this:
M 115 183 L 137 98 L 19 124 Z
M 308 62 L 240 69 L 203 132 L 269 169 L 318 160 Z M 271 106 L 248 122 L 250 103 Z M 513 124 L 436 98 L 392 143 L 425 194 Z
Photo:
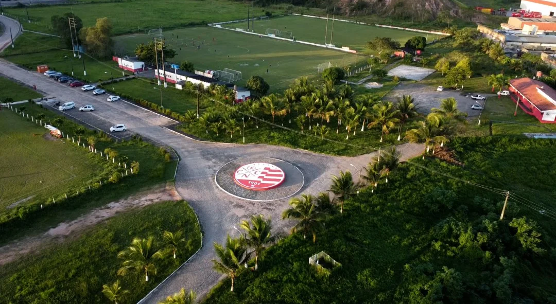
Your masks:
M 177 52 L 167 62 L 193 62 L 197 70 L 224 68 L 242 72 L 243 85 L 251 76 L 261 76 L 270 84 L 271 91 L 284 89 L 301 76 L 317 77 L 320 63 L 345 67 L 366 62 L 366 57 L 305 44 L 279 41 L 252 34 L 212 27 L 190 27 L 163 32 L 168 44 Z M 118 44 L 132 54 L 139 43 L 146 43 L 152 36 L 145 34 L 120 36 Z M 195 47 L 193 47 L 195 40 Z M 204 42 L 204 44 L 203 44 Z M 201 47 L 197 46 L 201 43 Z

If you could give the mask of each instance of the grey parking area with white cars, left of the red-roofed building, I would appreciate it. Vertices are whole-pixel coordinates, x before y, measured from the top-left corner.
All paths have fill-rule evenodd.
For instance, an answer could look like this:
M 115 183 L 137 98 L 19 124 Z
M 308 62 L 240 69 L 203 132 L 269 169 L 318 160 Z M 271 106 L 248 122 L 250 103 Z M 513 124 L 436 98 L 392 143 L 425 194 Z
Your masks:
M 419 112 L 423 114 L 430 113 L 431 108 L 439 108 L 440 101 L 449 97 L 455 98 L 458 101 L 458 109 L 461 112 L 467 112 L 469 117 L 479 116 L 481 111 L 471 109 L 471 104 L 484 104 L 484 101 L 475 101 L 471 99 L 471 93 L 467 94 L 465 92 L 456 91 L 450 88 L 444 88 L 444 91 L 436 91 L 436 87 L 425 86 L 420 83 L 400 83 L 396 86 L 390 93 L 388 93 L 384 99 L 389 101 L 395 101 L 396 98 L 402 95 L 411 95 L 415 103 L 419 106 Z M 469 97 L 466 97 L 469 95 Z M 492 99 L 492 97 L 497 96 L 496 94 L 484 94 L 481 96 L 487 99 Z M 488 105 L 487 105 L 488 106 Z

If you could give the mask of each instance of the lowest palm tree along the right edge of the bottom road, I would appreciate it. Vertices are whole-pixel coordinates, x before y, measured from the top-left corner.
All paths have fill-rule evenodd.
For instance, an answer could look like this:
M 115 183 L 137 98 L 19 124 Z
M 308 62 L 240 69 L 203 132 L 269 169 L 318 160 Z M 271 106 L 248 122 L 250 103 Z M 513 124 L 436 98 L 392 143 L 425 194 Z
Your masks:
M 224 275 L 227 275 L 232 280 L 232 287 L 230 291 L 234 291 L 234 280 L 237 276 L 245 270 L 244 263 L 249 260 L 247 248 L 245 247 L 245 239 L 231 238 L 228 235 L 224 246 L 219 243 L 214 243 L 216 256 L 219 260 L 212 260 L 212 268 Z

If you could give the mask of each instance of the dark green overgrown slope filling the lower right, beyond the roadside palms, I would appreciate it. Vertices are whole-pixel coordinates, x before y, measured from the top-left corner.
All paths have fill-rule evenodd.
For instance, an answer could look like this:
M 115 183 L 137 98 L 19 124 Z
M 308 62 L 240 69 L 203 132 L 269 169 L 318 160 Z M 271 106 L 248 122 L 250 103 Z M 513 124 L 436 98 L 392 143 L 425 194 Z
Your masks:
M 465 167 L 430 159 L 423 165 L 538 206 L 510 196 L 500 221 L 503 193 L 404 163 L 374 193 L 366 189 L 347 201 L 316 243 L 301 233 L 287 237 L 259 258 L 258 271 L 236 278 L 233 293 L 225 280 L 205 303 L 550 302 L 556 230 L 537 210 L 554 210 L 556 142 L 483 137 L 448 146 Z M 523 216 L 537 221 L 532 227 L 540 237 L 528 239 L 531 230 L 508 225 Z M 544 251 L 534 252 L 527 240 Z M 307 263 L 322 250 L 342 265 L 329 277 Z

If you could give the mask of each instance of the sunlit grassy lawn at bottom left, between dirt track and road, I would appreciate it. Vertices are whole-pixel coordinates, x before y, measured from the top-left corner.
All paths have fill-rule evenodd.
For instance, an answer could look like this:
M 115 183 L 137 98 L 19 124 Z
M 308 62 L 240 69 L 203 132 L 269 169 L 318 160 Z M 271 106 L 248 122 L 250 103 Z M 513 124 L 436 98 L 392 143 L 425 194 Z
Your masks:
M 164 231 L 183 231 L 190 246 L 179 246 L 175 260 L 169 254 L 155 262 L 157 274 L 148 282 L 143 272 L 116 274 L 122 263 L 116 257 L 118 251 L 129 246 L 134 237 L 153 236 L 160 248 Z M 130 291 L 122 303 L 135 303 L 200 246 L 201 230 L 186 202 L 155 203 L 116 215 L 69 241 L 3 265 L 0 296 L 2 302 L 9 303 L 108 303 L 101 293 L 102 285 L 120 280 L 122 289 Z

